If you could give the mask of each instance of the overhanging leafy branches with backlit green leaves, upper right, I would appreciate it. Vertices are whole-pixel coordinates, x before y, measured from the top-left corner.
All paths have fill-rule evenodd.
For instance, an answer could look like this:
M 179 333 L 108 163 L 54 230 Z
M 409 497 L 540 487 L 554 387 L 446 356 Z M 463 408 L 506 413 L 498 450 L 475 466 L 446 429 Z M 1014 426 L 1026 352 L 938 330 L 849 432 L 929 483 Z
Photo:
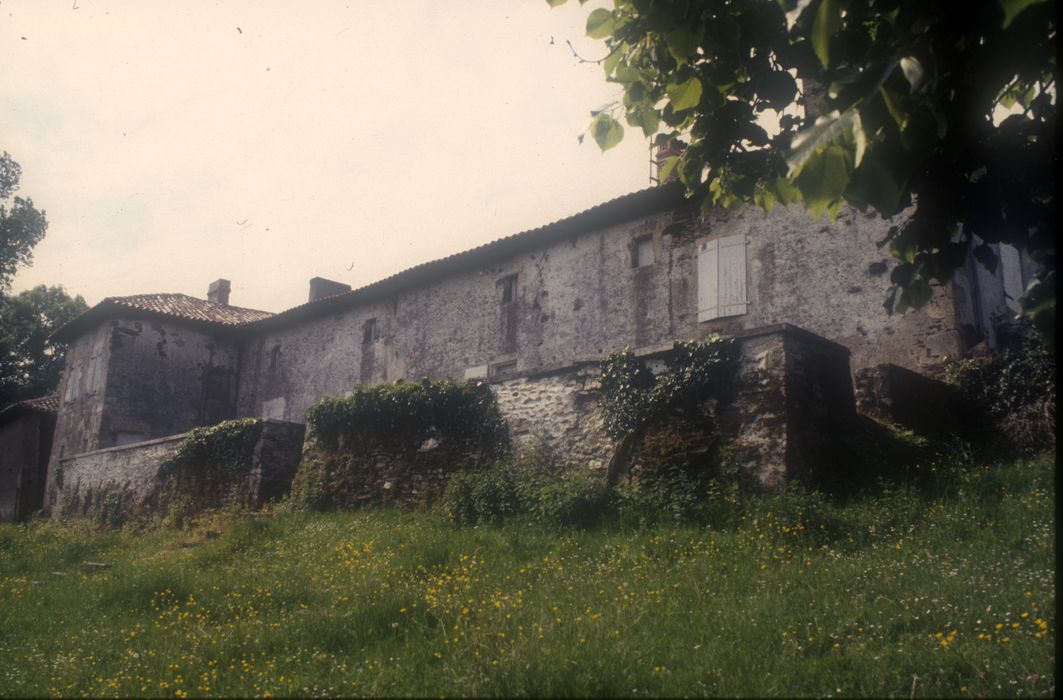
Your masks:
M 589 131 L 603 150 L 623 138 L 621 118 L 658 146 L 689 143 L 661 174 L 676 172 L 703 209 L 753 200 L 895 218 L 882 241 L 898 261 L 890 312 L 926 304 L 972 246 L 991 270 L 991 243 L 1025 250 L 1042 272 L 1023 307 L 1051 337 L 1054 11 L 1054 0 L 614 0 L 589 13 L 587 33 L 605 41 L 593 63 L 623 99 L 593 112 Z M 780 115 L 777 132 L 758 120 L 765 110 Z

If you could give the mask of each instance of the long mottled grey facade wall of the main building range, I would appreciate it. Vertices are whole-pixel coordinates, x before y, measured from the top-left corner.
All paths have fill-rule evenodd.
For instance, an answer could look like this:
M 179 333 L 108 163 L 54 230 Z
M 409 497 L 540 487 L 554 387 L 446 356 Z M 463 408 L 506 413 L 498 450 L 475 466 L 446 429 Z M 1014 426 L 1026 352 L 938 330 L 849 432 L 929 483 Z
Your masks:
M 645 348 L 712 331 L 790 323 L 851 351 L 933 368 L 960 352 L 948 288 L 925 309 L 882 308 L 893 263 L 877 247 L 888 223 L 844 210 L 831 224 L 799 209 L 684 210 L 646 216 L 455 273 L 360 307 L 264 331 L 243 347 L 240 415 L 301 422 L 356 383 L 488 376 L 567 366 L 625 345 Z M 747 312 L 697 321 L 697 250 L 745 236 Z M 653 262 L 637 267 L 639 240 Z M 513 298 L 504 280 L 516 276 Z M 367 322 L 375 330 L 367 332 Z

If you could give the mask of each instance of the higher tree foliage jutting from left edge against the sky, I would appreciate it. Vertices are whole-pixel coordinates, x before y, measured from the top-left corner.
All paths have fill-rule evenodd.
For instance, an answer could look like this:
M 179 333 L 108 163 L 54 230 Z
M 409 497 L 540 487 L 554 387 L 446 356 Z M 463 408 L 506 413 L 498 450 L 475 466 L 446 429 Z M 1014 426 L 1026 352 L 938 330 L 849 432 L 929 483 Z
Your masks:
M 48 229 L 45 211 L 33 206 L 33 200 L 12 194 L 18 191 L 22 168 L 6 151 L 0 155 L 0 292 L 11 286 L 19 267 L 33 260 L 33 246 Z

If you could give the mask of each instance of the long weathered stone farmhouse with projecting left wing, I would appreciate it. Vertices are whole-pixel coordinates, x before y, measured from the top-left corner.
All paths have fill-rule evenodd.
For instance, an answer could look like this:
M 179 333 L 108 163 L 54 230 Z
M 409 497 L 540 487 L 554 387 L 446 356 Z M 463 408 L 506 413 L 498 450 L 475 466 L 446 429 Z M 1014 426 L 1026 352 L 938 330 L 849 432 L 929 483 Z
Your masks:
M 790 324 L 848 348 L 853 371 L 931 375 L 946 355 L 992 345 L 1030 273 L 1017 256 L 994 274 L 972 263 L 925 308 L 889 317 L 893 263 L 876 245 L 888 227 L 855 210 L 702 218 L 668 184 L 359 289 L 315 278 L 305 304 L 275 314 L 230 305 L 223 279 L 206 301 L 109 297 L 55 334 L 68 351 L 50 475 L 79 454 L 229 417 L 304 423 L 354 385 L 478 377 L 514 405 L 529 378 L 712 332 Z

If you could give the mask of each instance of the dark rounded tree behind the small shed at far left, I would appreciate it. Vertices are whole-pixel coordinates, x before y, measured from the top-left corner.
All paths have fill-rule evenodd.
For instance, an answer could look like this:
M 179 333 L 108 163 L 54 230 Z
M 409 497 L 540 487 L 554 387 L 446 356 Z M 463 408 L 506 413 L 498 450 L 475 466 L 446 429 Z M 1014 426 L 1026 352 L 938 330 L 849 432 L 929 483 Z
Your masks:
M 55 391 L 66 346 L 48 337 L 87 308 L 80 294 L 71 298 L 62 287 L 0 294 L 0 408 Z

